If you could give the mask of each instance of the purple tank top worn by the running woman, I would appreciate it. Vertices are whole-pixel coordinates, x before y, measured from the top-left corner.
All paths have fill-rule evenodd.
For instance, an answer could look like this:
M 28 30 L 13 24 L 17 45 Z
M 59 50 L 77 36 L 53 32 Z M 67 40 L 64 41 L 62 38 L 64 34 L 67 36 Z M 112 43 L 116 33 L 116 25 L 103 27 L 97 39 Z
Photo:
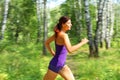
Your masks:
M 67 49 L 64 45 L 58 45 L 55 43 L 56 54 L 50 62 L 50 65 L 55 67 L 63 67 L 66 62 Z

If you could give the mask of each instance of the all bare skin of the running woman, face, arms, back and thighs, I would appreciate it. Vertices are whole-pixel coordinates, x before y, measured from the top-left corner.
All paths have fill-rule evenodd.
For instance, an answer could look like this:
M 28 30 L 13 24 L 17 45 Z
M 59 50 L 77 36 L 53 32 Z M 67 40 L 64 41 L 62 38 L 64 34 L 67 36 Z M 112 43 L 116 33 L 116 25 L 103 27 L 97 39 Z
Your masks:
M 73 51 L 79 49 L 82 45 L 88 42 L 88 40 L 85 38 L 80 43 L 72 46 L 69 37 L 66 34 L 66 31 L 70 30 L 71 26 L 72 26 L 71 20 L 68 20 L 65 24 L 62 24 L 62 30 L 57 34 L 57 38 L 55 38 L 55 34 L 54 34 L 46 40 L 45 45 L 53 56 L 55 55 L 55 52 L 50 47 L 50 43 L 52 41 L 56 41 L 56 44 L 58 45 L 65 45 L 69 53 L 72 53 Z M 43 80 L 48 80 L 48 79 L 55 80 L 58 74 L 61 75 L 61 77 L 64 78 L 64 80 L 75 80 L 73 73 L 71 72 L 70 68 L 67 65 L 65 65 L 58 73 L 55 73 L 48 69 Z

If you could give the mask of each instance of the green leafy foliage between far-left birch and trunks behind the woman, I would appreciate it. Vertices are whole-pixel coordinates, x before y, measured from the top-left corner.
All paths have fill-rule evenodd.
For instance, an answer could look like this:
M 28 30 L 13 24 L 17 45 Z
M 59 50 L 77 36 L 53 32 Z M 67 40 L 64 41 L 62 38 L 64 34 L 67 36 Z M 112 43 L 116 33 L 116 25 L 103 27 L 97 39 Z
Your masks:
M 36 4 L 33 0 L 11 0 L 7 23 L 9 27 L 6 30 L 7 39 L 30 41 L 37 35 L 35 8 Z

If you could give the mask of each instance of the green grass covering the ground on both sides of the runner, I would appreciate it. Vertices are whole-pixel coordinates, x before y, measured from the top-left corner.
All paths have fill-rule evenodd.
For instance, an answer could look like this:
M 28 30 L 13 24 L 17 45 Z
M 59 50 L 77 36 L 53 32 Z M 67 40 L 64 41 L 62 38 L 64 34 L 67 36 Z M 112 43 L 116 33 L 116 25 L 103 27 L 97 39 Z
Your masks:
M 40 44 L 3 44 L 3 47 L 0 80 L 42 80 L 52 56 L 43 56 Z M 99 58 L 88 58 L 86 46 L 68 55 L 67 65 L 76 80 L 120 80 L 120 49 L 100 49 L 99 55 Z M 56 80 L 63 79 L 58 76 Z

